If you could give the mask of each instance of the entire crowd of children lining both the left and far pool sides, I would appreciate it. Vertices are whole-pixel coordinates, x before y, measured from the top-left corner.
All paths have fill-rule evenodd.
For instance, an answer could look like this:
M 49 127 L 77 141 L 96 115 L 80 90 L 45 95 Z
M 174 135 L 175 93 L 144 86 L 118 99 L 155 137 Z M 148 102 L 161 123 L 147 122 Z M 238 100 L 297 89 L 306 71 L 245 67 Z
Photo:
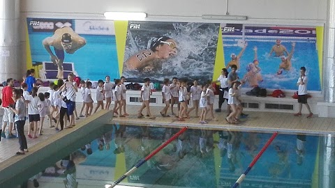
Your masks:
M 32 77 L 33 76 L 34 74 Z M 26 114 L 26 118 L 29 119 L 27 135 L 29 138 L 36 139 L 39 135 L 43 135 L 43 125 L 46 118 L 49 127 L 55 127 L 55 130 L 61 131 L 75 126 L 75 119 L 91 116 L 94 109 L 94 99 L 91 93 L 92 82 L 82 80 L 79 86 L 77 86 L 77 82 L 74 81 L 74 78 L 75 75 L 70 74 L 66 81 L 59 79 L 50 83 L 50 90 L 45 93 L 38 93 L 38 86 L 35 84 L 31 85 L 30 83 L 31 91 L 29 91 L 28 83 L 22 83 L 22 95 L 20 97 L 24 100 L 24 104 L 26 105 L 24 113 Z M 98 109 L 110 109 L 110 104 L 112 100 L 114 100 L 113 116 L 120 118 L 129 116 L 126 112 L 127 89 L 125 82 L 125 77 L 114 79 L 114 83 L 110 81 L 109 76 L 105 77 L 105 81 L 102 79 L 98 80 L 95 98 L 96 107 L 93 113 L 96 113 Z M 8 87 L 13 89 L 12 85 L 9 84 Z M 228 104 L 231 110 L 229 116 L 226 118 L 228 123 L 236 123 L 241 113 L 241 94 L 239 93 L 238 85 L 239 82 L 234 82 L 232 88 L 229 90 Z M 80 116 L 77 116 L 77 110 L 75 108 L 78 88 L 80 88 L 83 101 L 79 113 Z M 156 118 L 150 111 L 151 89 L 150 79 L 144 79 L 144 85 L 140 91 L 140 102 L 142 102 L 142 106 L 137 113 L 137 118 L 144 117 L 142 114 L 144 109 L 146 109 L 146 115 L 149 119 Z M 200 86 L 198 81 L 195 80 L 192 86 L 189 86 L 186 79 L 178 80 L 177 77 L 174 77 L 172 78 L 172 83 L 170 83 L 170 79 L 164 79 L 162 95 L 165 107 L 160 111 L 161 116 L 164 118 L 170 117 L 168 114 L 168 109 L 170 108 L 171 115 L 176 116 L 180 121 L 190 118 L 190 114 L 193 113 L 193 111 L 195 112 L 194 117 L 199 118 L 199 123 L 205 124 L 207 120 L 217 120 L 214 116 L 213 109 L 214 92 L 215 88 L 211 82 Z M 188 108 L 189 102 L 192 104 L 191 108 Z M 15 104 L 14 101 L 12 103 L 11 105 Z M 174 113 L 174 104 L 177 104 L 178 113 Z M 6 105 L 9 106 L 10 104 Z M 199 111 L 199 108 L 201 111 Z M 208 119 L 207 113 L 209 116 Z M 7 120 L 5 123 L 13 124 L 14 121 Z M 55 125 L 53 125 L 53 123 L 55 123 Z M 6 128 L 6 126 L 3 126 L 3 128 Z M 11 134 L 11 131 L 14 129 L 15 127 L 13 126 L 10 128 L 8 137 L 14 137 L 13 134 Z M 6 138 L 5 132 L 2 132 L 1 136 Z

